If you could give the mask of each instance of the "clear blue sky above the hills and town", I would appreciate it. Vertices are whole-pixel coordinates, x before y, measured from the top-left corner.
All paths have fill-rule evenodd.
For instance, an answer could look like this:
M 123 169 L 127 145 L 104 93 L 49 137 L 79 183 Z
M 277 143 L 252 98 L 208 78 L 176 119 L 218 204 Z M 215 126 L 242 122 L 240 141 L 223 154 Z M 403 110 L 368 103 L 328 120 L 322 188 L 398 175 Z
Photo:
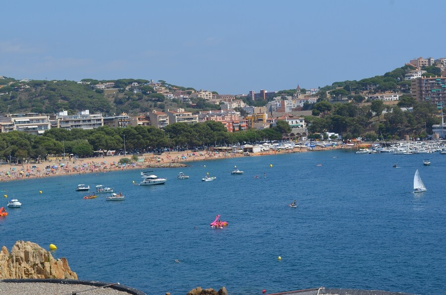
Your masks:
M 446 57 L 443 0 L 7 1 L 0 75 L 317 88 Z

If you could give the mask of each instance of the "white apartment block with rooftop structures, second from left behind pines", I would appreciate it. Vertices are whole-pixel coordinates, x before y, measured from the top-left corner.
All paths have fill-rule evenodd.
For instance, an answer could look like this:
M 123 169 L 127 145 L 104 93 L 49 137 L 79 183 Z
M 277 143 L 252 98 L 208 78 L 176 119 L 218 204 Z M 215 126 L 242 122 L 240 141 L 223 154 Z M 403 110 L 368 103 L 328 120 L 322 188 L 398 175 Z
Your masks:
M 78 112 L 77 115 L 68 115 L 67 111 L 56 114 L 59 128 L 63 129 L 96 129 L 104 126 L 104 118 L 102 114 L 90 114 L 90 111 L 84 110 Z

